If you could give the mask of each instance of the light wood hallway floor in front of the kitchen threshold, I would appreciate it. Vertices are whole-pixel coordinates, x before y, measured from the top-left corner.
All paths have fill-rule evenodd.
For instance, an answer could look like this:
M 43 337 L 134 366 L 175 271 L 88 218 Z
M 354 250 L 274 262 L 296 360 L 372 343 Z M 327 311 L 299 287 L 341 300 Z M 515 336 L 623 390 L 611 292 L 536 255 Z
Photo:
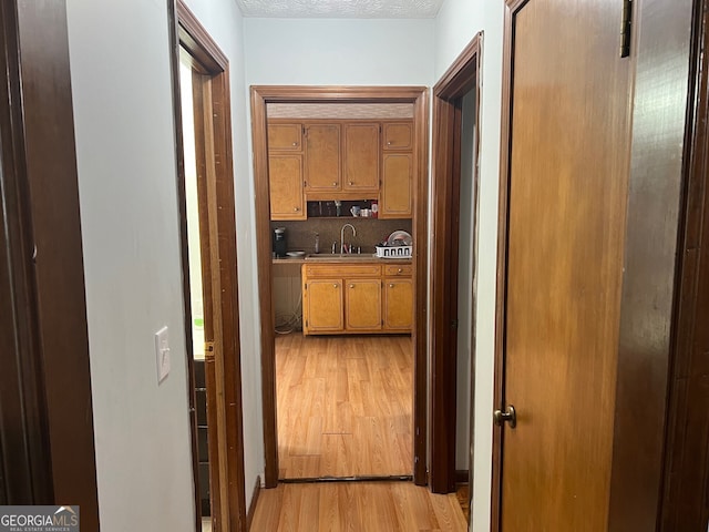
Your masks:
M 261 490 L 254 532 L 464 532 L 454 493 L 412 482 L 279 484 Z

